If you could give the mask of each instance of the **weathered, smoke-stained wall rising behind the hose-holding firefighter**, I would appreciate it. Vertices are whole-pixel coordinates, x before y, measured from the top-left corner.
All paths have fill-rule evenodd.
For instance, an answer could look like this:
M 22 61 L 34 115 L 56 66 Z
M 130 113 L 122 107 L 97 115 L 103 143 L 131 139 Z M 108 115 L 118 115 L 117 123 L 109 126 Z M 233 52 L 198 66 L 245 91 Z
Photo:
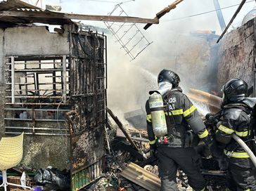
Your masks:
M 226 34 L 220 41 L 218 52 L 217 87 L 231 78 L 241 78 L 253 85 L 255 67 L 255 19 Z

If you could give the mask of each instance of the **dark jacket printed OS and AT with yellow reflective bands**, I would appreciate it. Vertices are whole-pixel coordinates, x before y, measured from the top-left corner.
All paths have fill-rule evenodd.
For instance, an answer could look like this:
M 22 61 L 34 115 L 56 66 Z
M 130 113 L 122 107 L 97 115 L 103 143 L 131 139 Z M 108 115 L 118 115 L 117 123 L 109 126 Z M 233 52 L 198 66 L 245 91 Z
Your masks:
M 162 95 L 165 110 L 165 119 L 167 122 L 167 138 L 168 146 L 185 147 L 186 134 L 188 130 L 193 130 L 193 133 L 198 134 L 199 138 L 207 139 L 208 131 L 205 129 L 202 119 L 200 119 L 196 107 L 191 103 L 191 100 L 182 93 L 181 88 L 174 88 Z M 148 100 L 146 102 L 147 113 L 147 130 L 148 139 L 151 145 L 155 145 L 159 138 L 153 133 L 151 122 L 151 111 Z M 159 141 L 158 141 L 159 142 Z

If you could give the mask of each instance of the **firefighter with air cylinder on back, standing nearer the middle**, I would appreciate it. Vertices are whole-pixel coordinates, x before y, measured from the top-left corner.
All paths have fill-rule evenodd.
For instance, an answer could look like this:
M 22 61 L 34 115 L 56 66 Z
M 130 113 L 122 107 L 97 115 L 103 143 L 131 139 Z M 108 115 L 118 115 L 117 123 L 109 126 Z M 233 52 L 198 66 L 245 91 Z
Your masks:
M 186 173 L 188 184 L 193 190 L 205 190 L 205 179 L 200 173 L 200 158 L 191 145 L 191 135 L 196 133 L 207 144 L 210 143 L 210 136 L 196 107 L 182 93 L 179 82 L 179 76 L 171 70 L 162 70 L 158 75 L 158 93 L 162 95 L 166 106 L 164 116 L 167 133 L 162 138 L 155 136 L 153 114 L 147 100 L 148 139 L 151 151 L 158 157 L 162 191 L 177 190 L 178 168 Z

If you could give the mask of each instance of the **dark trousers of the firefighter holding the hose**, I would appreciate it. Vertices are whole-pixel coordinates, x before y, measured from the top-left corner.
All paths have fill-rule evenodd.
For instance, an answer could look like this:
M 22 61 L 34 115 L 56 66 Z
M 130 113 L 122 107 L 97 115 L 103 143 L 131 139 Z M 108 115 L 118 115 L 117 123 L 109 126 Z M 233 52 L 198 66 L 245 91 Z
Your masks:
M 250 158 L 230 157 L 227 179 L 231 191 L 256 191 L 255 169 Z M 253 167 L 253 168 L 252 168 Z

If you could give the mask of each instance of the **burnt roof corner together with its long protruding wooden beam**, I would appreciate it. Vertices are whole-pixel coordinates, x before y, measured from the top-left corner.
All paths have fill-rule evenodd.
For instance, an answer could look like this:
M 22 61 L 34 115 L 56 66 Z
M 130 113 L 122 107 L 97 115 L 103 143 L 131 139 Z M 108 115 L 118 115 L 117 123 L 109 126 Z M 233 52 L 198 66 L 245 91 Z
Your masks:
M 17 2 L 17 4 L 15 4 Z M 27 4 L 20 3 L 18 0 L 8 0 L 0 4 L 4 5 L 0 10 L 0 27 L 9 24 L 11 26 L 20 24 L 30 24 L 33 22 L 41 22 L 50 25 L 64 25 L 72 22 L 71 19 L 76 20 L 98 20 L 110 22 L 138 22 L 158 24 L 158 18 L 137 18 L 128 16 L 114 16 L 114 15 L 83 15 L 73 13 L 60 13 L 55 11 L 44 11 L 41 8 L 34 6 L 26 6 Z M 5 25 L 1 25 L 3 22 Z

